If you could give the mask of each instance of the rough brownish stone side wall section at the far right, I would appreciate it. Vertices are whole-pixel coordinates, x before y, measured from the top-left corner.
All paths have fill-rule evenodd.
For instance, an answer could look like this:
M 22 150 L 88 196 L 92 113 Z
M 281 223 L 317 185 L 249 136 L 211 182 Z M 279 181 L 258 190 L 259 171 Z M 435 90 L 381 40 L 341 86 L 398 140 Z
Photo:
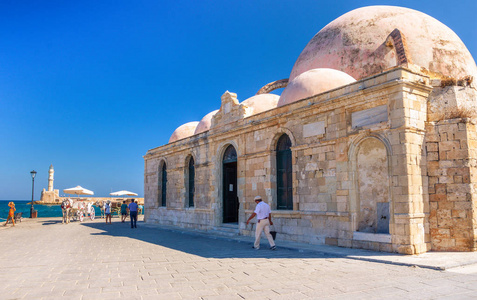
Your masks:
M 467 119 L 427 125 L 432 250 L 475 250 L 476 126 Z

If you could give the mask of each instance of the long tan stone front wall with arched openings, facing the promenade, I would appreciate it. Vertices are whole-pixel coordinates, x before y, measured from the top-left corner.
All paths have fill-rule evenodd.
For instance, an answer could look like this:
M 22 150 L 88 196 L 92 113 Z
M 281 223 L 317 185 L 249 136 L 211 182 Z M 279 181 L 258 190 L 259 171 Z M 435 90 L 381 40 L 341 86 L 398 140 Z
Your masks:
M 431 91 L 427 80 L 397 68 L 244 119 L 233 113 L 229 120 L 225 106 L 231 107 L 230 112 L 241 106 L 223 98 L 223 113 L 214 119 L 217 127 L 145 155 L 147 222 L 200 230 L 221 226 L 222 155 L 233 145 L 238 154 L 240 234 L 253 235 L 245 221 L 255 207 L 253 198 L 260 195 L 272 207 L 280 239 L 406 254 L 430 250 L 432 226 L 427 219 L 432 219 L 432 213 L 427 191 L 435 188 L 434 179 L 428 177 L 435 166 L 431 163 L 427 171 L 430 160 L 423 151 L 429 130 L 425 126 Z M 293 210 L 277 210 L 275 148 L 282 134 L 292 142 Z M 383 176 L 387 169 L 388 178 L 383 180 L 389 181 L 389 234 L 358 230 L 360 197 L 372 195 L 360 194 L 362 181 L 358 180 L 362 172 L 357 155 L 367 139 L 386 149 L 383 163 L 388 168 Z M 187 207 L 185 184 L 190 156 L 196 164 L 193 208 Z M 168 172 L 166 207 L 158 204 L 161 161 Z

